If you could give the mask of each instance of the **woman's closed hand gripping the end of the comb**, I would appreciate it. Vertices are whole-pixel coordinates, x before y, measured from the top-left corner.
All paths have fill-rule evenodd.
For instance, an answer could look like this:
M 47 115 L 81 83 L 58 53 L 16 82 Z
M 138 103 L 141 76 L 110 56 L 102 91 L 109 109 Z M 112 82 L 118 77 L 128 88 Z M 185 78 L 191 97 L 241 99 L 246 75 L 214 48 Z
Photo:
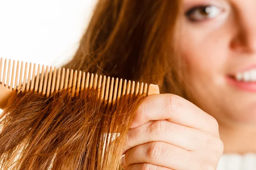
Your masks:
M 216 170 L 223 153 L 218 123 L 173 94 L 145 98 L 128 131 L 125 170 Z

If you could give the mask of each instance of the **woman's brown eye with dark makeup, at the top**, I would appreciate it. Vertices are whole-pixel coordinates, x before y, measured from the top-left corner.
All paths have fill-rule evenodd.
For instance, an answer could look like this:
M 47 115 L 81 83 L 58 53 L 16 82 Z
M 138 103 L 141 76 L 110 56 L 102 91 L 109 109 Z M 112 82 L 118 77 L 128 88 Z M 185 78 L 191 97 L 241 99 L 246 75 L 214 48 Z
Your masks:
M 200 22 L 217 17 L 221 8 L 217 6 L 197 6 L 186 12 L 186 16 L 193 22 Z

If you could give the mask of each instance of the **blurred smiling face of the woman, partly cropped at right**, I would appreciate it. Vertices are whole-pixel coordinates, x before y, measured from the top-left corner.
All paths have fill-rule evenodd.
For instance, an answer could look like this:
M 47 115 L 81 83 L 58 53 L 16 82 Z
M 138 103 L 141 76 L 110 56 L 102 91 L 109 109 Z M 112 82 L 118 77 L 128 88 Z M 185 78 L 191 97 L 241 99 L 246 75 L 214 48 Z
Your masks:
M 256 125 L 256 0 L 183 0 L 193 99 L 219 122 Z

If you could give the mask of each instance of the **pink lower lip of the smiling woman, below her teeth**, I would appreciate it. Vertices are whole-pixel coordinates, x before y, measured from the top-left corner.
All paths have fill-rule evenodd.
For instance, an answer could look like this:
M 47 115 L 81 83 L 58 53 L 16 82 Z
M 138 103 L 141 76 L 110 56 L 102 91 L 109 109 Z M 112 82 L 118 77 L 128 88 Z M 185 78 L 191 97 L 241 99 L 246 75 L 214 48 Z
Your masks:
M 256 92 L 256 82 L 243 82 L 236 81 L 235 78 L 227 76 L 227 83 L 232 85 L 233 87 L 248 92 Z

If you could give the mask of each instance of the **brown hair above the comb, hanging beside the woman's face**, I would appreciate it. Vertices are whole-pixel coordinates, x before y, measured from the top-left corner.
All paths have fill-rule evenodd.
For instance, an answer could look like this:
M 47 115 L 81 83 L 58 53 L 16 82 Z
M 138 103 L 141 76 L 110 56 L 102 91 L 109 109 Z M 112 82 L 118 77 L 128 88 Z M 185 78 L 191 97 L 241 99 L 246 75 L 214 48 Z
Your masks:
M 99 0 L 73 59 L 88 72 L 156 83 L 183 97 L 177 51 L 179 0 Z

